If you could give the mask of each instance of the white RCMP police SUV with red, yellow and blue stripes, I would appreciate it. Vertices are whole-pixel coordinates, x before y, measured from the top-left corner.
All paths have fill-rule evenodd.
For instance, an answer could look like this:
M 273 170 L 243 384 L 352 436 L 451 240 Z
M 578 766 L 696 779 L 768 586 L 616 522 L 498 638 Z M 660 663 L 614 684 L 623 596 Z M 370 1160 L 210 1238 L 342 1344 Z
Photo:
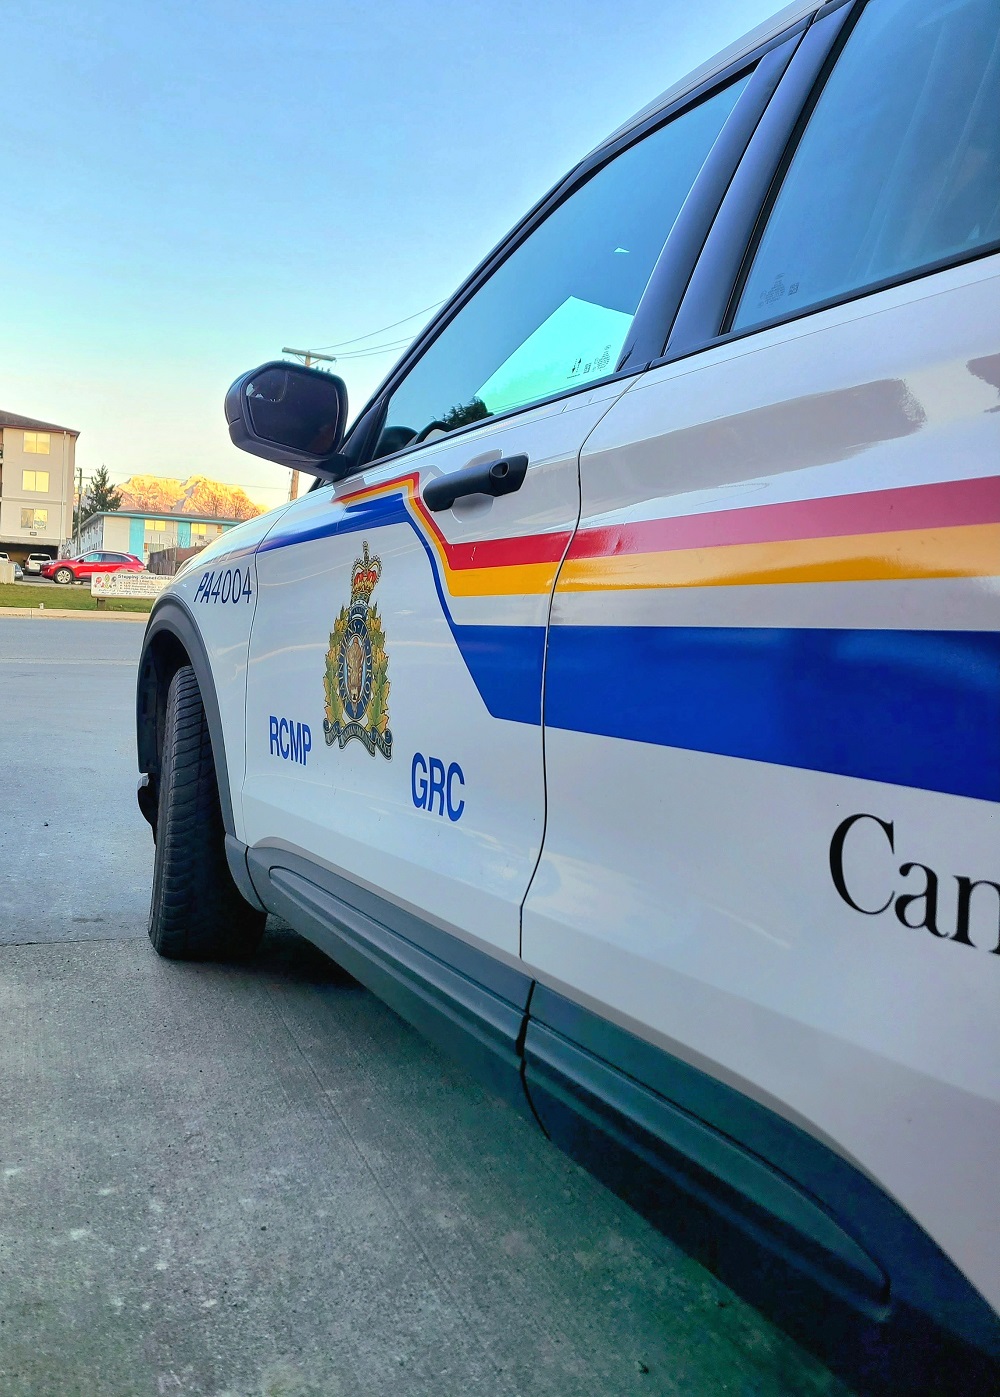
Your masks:
M 156 602 L 149 936 L 286 918 L 866 1389 L 1000 1356 L 1000 7 L 795 4 Z M 962 1387 L 961 1383 L 965 1383 Z

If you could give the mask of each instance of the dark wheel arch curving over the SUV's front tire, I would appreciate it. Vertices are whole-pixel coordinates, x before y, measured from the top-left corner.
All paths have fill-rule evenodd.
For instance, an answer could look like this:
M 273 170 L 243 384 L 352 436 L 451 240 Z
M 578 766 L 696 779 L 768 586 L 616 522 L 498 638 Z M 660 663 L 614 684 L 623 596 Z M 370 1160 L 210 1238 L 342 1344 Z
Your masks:
M 222 714 L 212 666 L 196 620 L 179 597 L 168 595 L 156 602 L 142 638 L 135 686 L 135 749 L 141 773 L 138 807 L 155 834 L 159 761 L 166 724 L 166 693 L 170 680 L 183 665 L 191 666 L 198 682 L 208 722 L 208 736 L 212 743 L 222 823 L 226 834 L 235 835 L 236 824 L 229 788 L 226 746 L 222 738 Z

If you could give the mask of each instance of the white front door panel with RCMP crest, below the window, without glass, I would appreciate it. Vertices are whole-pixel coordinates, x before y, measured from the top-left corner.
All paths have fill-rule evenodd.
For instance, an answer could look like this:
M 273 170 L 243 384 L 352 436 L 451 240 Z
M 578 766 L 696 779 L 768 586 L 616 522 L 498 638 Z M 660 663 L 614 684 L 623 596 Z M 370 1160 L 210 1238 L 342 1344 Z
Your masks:
M 257 557 L 250 844 L 281 837 L 517 956 L 545 814 L 549 595 L 610 391 L 427 444 L 285 515 Z M 426 507 L 427 481 L 511 455 L 529 461 L 517 493 Z

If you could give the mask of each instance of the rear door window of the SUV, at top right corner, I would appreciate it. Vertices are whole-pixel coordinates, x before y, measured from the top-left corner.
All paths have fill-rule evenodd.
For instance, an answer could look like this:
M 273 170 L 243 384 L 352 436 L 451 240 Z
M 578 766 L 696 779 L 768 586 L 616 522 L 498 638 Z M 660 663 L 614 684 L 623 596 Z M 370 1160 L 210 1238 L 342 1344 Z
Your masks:
M 997 0 L 869 0 L 788 168 L 733 328 L 997 239 Z

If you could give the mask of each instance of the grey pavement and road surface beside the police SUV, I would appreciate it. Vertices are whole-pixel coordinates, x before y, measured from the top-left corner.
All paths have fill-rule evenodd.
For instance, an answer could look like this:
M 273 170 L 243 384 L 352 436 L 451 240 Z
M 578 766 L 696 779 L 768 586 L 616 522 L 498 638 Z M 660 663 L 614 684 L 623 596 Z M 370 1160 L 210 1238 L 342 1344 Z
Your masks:
M 0 619 L 3 1397 L 841 1397 L 286 928 L 158 960 L 141 636 Z

